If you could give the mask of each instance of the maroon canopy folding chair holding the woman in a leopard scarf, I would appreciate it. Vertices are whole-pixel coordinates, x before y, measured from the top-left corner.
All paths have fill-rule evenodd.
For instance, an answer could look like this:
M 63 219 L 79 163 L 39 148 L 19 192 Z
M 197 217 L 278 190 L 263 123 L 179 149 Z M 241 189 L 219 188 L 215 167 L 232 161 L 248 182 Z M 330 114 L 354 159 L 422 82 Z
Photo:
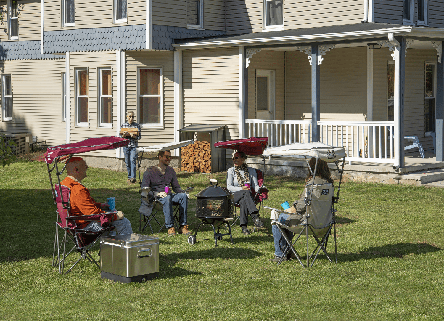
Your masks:
M 264 220 L 264 201 L 268 198 L 268 192 L 269 190 L 264 186 L 264 173 L 265 173 L 265 156 L 263 156 L 264 149 L 268 145 L 268 137 L 250 137 L 250 138 L 242 138 L 242 139 L 232 139 L 232 140 L 226 140 L 223 142 L 214 143 L 214 147 L 218 148 L 229 148 L 234 149 L 235 151 L 243 151 L 248 156 L 258 156 L 262 155 L 264 162 L 264 170 L 259 170 L 255 168 L 256 174 L 258 175 L 258 184 L 259 184 L 259 190 L 256 192 L 251 187 L 251 194 L 253 194 L 253 200 L 254 205 L 259 204 L 259 211 L 261 210 L 262 206 L 262 221 Z M 233 226 L 236 224 L 237 220 L 240 220 L 239 215 L 236 212 L 236 208 L 240 208 L 240 204 L 234 203 L 234 221 L 230 225 Z M 228 224 L 228 223 L 227 223 Z M 253 232 L 256 230 L 256 226 L 253 228 Z

